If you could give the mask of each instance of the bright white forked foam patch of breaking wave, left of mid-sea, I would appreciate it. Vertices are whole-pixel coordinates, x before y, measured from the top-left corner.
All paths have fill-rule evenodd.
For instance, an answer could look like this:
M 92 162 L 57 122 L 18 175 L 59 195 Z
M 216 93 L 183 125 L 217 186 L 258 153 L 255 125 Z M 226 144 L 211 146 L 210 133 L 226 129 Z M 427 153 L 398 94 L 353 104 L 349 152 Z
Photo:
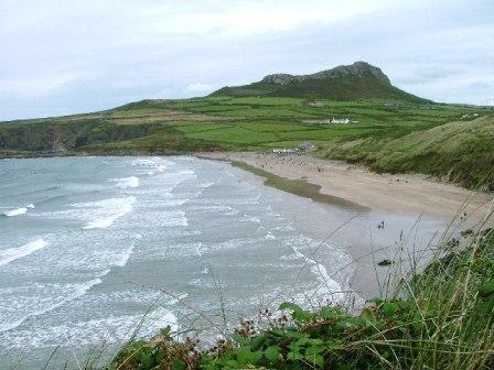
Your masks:
M 130 213 L 135 203 L 136 197 L 129 196 L 126 198 L 110 198 L 99 202 L 74 204 L 72 206 L 76 208 L 95 209 L 96 219 L 89 221 L 83 227 L 84 230 L 92 230 L 106 229 L 110 227 L 115 220 Z

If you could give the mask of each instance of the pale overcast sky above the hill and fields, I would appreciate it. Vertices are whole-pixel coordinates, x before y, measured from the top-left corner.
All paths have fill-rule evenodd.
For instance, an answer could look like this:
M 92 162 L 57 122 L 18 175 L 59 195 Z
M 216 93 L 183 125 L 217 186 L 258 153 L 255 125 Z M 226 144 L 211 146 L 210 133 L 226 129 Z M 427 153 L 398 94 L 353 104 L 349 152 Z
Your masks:
M 0 0 L 0 120 L 355 61 L 425 98 L 494 105 L 494 1 Z

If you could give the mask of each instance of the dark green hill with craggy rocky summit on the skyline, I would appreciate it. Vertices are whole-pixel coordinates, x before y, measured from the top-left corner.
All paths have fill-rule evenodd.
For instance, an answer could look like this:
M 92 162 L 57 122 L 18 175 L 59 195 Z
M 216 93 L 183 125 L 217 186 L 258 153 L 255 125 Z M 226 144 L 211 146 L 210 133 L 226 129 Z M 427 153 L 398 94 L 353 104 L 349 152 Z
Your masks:
M 352 65 L 339 66 L 312 75 L 269 75 L 250 85 L 224 87 L 212 96 L 270 96 L 333 100 L 380 98 L 426 101 L 393 86 L 380 68 L 365 62 L 355 62 Z

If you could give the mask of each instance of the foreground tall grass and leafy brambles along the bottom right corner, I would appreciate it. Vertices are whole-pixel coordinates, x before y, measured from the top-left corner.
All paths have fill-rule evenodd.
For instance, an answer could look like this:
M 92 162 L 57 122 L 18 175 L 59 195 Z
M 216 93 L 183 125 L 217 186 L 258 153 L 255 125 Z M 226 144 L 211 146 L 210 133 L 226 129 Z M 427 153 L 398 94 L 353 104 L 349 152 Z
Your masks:
M 283 303 L 258 327 L 240 323 L 212 348 L 164 329 L 121 348 L 109 369 L 443 369 L 494 368 L 494 231 L 445 242 L 393 297 L 356 315 L 343 307 L 307 311 Z M 447 252 L 448 249 L 448 252 Z

